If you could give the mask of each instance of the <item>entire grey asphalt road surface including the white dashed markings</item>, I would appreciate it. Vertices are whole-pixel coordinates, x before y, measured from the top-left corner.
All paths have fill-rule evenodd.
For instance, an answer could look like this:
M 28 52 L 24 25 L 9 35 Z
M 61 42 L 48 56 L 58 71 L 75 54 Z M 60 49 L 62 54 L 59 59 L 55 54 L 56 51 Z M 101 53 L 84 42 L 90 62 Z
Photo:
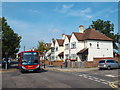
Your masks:
M 118 71 L 57 72 L 42 69 L 40 73 L 3 72 L 2 88 L 111 88 L 109 82 L 118 81 Z

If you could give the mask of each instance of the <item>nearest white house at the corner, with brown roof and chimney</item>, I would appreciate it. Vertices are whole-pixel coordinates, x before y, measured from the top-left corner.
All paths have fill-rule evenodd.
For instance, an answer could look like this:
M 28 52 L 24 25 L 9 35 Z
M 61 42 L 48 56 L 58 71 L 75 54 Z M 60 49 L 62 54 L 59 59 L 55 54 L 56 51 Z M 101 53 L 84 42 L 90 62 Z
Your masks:
M 71 60 L 93 61 L 94 57 L 113 57 L 113 40 L 104 34 L 81 25 L 79 33 L 72 33 L 70 39 Z

